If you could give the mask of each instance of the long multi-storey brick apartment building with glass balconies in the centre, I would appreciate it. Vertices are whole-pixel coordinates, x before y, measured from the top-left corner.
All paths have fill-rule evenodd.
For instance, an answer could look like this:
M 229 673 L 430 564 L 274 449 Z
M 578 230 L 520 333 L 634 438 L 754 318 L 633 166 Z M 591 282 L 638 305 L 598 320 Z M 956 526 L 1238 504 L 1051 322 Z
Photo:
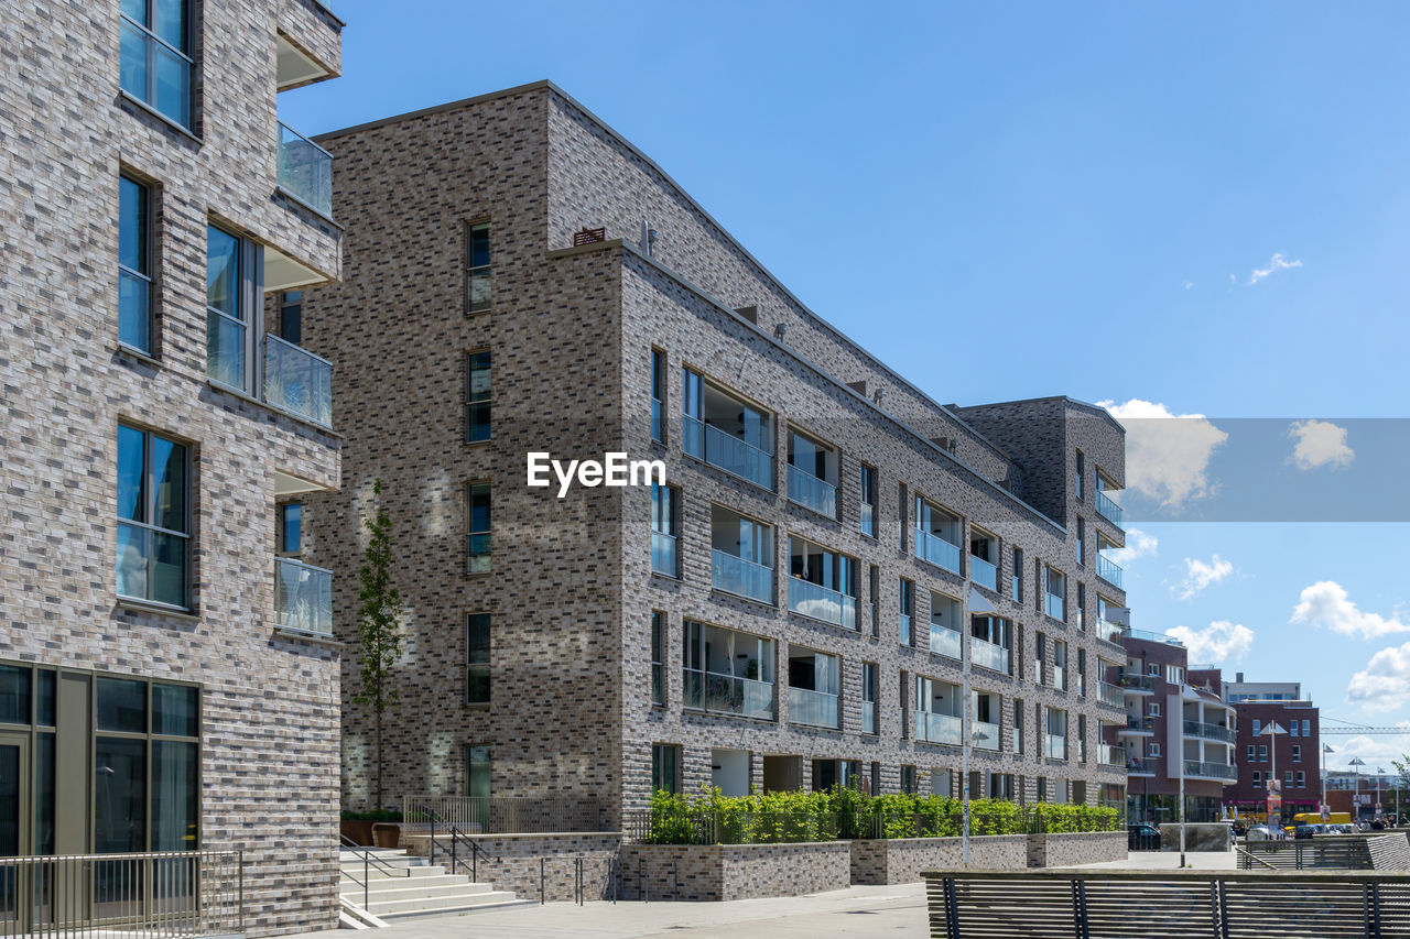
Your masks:
M 384 482 L 407 642 L 385 801 L 598 799 L 615 826 L 654 788 L 959 794 L 966 705 L 973 795 L 1124 798 L 1110 415 L 929 399 L 547 82 L 317 141 L 348 235 L 305 338 L 340 376 L 347 482 L 282 505 L 354 642 Z M 942 321 L 916 343 L 960 354 Z M 532 451 L 666 484 L 560 496 Z M 375 774 L 357 687 L 350 656 L 348 808 Z

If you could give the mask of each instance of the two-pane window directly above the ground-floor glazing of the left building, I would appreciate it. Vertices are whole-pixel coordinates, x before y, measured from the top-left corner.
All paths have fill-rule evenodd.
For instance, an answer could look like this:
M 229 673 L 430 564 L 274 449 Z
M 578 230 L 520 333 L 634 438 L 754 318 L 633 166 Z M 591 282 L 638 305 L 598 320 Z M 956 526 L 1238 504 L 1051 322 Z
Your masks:
M 117 592 L 190 605 L 190 457 L 185 444 L 117 427 Z

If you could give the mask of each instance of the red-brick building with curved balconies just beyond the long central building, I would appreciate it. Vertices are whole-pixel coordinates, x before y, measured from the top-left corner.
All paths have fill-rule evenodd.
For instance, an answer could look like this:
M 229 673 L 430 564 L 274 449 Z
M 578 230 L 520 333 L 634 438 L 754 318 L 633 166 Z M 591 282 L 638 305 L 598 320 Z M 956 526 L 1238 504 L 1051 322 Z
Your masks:
M 1191 670 L 1186 647 L 1170 636 L 1127 629 L 1121 687 L 1127 719 L 1112 730 L 1125 757 L 1128 818 L 1213 822 L 1222 816 L 1224 787 L 1234 782 L 1234 708 L 1220 696 L 1218 670 Z M 1183 781 L 1182 781 L 1183 775 Z

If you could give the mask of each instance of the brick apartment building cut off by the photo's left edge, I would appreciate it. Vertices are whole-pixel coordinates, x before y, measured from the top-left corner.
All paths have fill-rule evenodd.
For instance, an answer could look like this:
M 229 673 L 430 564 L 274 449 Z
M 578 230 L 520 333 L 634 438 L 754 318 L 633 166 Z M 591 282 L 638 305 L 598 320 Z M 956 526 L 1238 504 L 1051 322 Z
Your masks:
M 312 0 L 0 11 L 0 854 L 241 852 L 248 935 L 337 922 L 329 581 L 279 560 L 275 506 L 338 485 L 296 324 L 341 230 L 276 102 L 338 73 L 341 25 Z M 63 915 L 238 887 L 173 864 L 107 861 Z M 37 902 L 6 892 L 4 928 L 48 928 Z

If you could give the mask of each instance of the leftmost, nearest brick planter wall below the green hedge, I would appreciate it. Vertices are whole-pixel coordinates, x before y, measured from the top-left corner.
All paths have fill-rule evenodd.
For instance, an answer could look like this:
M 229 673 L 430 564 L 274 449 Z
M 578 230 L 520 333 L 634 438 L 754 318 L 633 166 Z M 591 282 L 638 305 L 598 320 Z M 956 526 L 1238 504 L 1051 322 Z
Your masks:
M 852 884 L 847 842 L 623 845 L 622 900 L 797 897 Z

